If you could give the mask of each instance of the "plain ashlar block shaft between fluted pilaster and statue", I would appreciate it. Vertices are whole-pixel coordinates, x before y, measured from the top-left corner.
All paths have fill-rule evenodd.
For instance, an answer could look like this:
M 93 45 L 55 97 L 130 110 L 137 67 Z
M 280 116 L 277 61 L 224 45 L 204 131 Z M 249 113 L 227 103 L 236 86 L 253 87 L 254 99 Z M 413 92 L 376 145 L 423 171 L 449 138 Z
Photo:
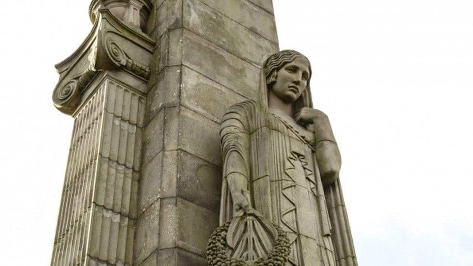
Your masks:
M 279 50 L 274 16 L 247 0 L 158 0 L 154 8 L 134 264 L 207 265 L 219 224 L 220 119 L 256 97 L 261 64 Z

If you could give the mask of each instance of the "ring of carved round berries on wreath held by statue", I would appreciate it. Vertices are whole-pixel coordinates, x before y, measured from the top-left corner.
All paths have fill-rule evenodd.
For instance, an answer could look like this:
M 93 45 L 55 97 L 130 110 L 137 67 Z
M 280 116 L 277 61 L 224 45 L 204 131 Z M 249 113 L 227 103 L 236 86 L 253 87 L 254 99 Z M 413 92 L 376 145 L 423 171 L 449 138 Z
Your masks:
M 230 222 L 231 221 L 228 221 L 217 228 L 208 241 L 207 261 L 211 266 L 247 265 L 245 261 L 231 258 L 225 252 L 225 239 Z M 267 256 L 257 259 L 254 265 L 284 266 L 289 258 L 289 253 L 291 252 L 291 244 L 289 243 L 289 239 L 281 227 L 274 223 L 273 226 L 278 231 L 278 239 L 276 239 L 276 244 L 273 246 L 273 250 L 271 250 Z

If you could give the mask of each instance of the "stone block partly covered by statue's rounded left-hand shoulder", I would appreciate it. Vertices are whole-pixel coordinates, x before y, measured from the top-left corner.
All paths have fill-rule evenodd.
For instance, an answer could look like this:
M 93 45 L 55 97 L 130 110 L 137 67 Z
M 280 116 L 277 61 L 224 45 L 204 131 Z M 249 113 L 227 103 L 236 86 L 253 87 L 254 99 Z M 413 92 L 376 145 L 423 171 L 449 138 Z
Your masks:
M 245 97 L 184 66 L 181 99 L 183 106 L 220 123 L 225 111 Z

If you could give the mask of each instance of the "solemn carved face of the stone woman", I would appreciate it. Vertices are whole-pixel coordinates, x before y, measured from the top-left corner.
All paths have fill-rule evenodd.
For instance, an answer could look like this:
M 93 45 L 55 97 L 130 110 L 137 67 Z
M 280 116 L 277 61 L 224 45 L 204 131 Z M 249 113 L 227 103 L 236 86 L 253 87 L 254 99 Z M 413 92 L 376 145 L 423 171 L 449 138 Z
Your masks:
M 295 102 L 307 87 L 310 75 L 309 61 L 298 57 L 286 63 L 277 74 L 276 82 L 273 83 L 271 90 L 284 102 Z

